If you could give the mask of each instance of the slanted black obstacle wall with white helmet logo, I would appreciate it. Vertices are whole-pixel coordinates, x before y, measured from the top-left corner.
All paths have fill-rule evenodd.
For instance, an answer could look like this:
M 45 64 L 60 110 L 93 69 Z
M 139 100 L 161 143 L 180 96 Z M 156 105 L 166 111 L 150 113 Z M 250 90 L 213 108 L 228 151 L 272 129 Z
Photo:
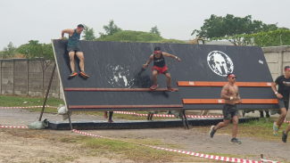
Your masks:
M 79 76 L 69 77 L 67 41 L 52 42 L 69 110 L 220 110 L 221 103 L 184 104 L 183 99 L 220 99 L 222 86 L 178 86 L 178 81 L 227 82 L 227 74 L 233 72 L 237 82 L 273 82 L 261 47 L 80 41 L 80 49 L 85 55 L 85 70 L 90 76 L 85 79 Z M 153 85 L 153 62 L 148 69 L 142 69 L 142 65 L 148 61 L 155 46 L 160 46 L 162 52 L 177 55 L 181 59 L 178 62 L 165 58 L 171 74 L 171 86 L 178 88 L 178 92 L 147 89 L 128 91 Z M 75 63 L 76 71 L 79 72 L 79 60 L 76 59 Z M 165 88 L 166 77 L 159 75 L 158 83 L 159 88 Z M 73 88 L 128 89 L 71 91 Z M 269 86 L 239 87 L 239 92 L 242 99 L 276 98 Z M 110 106 L 104 107 L 108 105 Z M 238 108 L 273 109 L 278 108 L 278 105 L 246 103 L 239 104 Z

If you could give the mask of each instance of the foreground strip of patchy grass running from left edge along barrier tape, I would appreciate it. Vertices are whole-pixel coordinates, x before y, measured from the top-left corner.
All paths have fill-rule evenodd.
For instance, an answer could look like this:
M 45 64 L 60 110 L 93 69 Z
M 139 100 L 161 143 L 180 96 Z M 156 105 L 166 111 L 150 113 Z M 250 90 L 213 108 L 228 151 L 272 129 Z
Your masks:
M 84 135 L 72 134 L 55 134 L 48 130 L 27 130 L 27 129 L 1 129 L 0 131 L 13 136 L 20 136 L 25 138 L 47 139 L 54 142 L 73 143 L 78 148 L 84 149 L 87 156 L 105 157 L 109 159 L 130 159 L 137 162 L 219 162 L 214 159 L 203 159 L 195 156 L 181 154 L 171 151 L 161 151 L 142 146 L 139 143 L 148 145 L 162 145 L 163 147 L 178 147 L 175 144 L 162 143 L 160 140 L 134 140 L 125 143 L 119 140 L 110 140 L 104 138 L 96 138 Z M 80 146 L 79 146 L 80 145 Z M 54 158 L 53 158 L 54 159 Z M 60 161 L 71 160 L 76 158 L 63 158 Z M 52 160 L 47 160 L 52 161 Z M 54 162 L 54 161 L 53 161 Z

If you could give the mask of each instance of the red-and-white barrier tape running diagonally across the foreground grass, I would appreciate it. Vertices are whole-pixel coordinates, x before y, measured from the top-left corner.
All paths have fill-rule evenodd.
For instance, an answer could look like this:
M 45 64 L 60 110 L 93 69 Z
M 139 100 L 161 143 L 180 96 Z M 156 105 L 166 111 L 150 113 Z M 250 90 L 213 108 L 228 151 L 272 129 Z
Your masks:
M 85 135 L 89 135 L 89 136 L 93 136 L 93 137 L 99 137 L 99 138 L 117 140 L 117 141 L 122 141 L 122 142 L 127 142 L 127 143 L 134 143 L 134 142 L 129 142 L 129 141 L 125 141 L 125 140 L 119 140 L 119 139 L 115 139 L 115 138 L 105 137 L 105 136 L 101 136 L 101 135 L 87 134 L 87 133 L 84 133 L 84 132 L 79 132 L 76 129 L 71 130 L 71 132 L 78 133 L 78 134 L 85 134 Z M 216 159 L 216 160 L 223 160 L 223 161 L 228 161 L 228 162 L 261 163 L 263 160 L 264 161 L 266 160 L 266 159 L 262 159 L 262 161 L 254 161 L 254 160 L 249 160 L 249 159 L 236 159 L 236 158 L 228 158 L 228 157 L 208 155 L 208 154 L 203 154 L 203 153 L 195 153 L 195 152 L 191 152 L 191 151 L 172 150 L 172 149 L 167 149 L 167 148 L 162 148 L 162 147 L 156 147 L 156 146 L 152 146 L 152 145 L 146 145 L 146 144 L 143 144 L 143 143 L 135 143 L 135 144 L 143 145 L 143 146 L 150 147 L 150 148 L 153 148 L 153 149 L 156 149 L 156 150 L 174 151 L 174 152 L 178 152 L 178 153 L 182 153 L 182 154 L 187 154 L 187 155 L 192 155 L 192 156 L 196 156 L 196 157 L 200 157 L 200 158 Z M 269 161 L 269 160 L 267 160 L 267 161 Z M 276 162 L 276 161 L 271 161 L 271 162 L 272 163 L 279 163 L 279 162 Z

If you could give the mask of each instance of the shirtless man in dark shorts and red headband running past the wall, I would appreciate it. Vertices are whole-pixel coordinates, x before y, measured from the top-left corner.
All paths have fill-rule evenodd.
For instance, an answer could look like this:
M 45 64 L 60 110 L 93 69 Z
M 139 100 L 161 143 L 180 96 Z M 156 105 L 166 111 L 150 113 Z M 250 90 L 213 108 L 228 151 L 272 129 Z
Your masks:
M 228 126 L 230 123 L 230 118 L 233 119 L 233 135 L 230 143 L 238 143 L 241 142 L 236 139 L 237 129 L 238 129 L 238 109 L 236 107 L 236 101 L 242 103 L 240 94 L 238 94 L 238 86 L 236 83 L 236 76 L 233 73 L 228 74 L 228 84 L 223 86 L 221 90 L 220 97 L 225 99 L 225 104 L 222 109 L 222 113 L 224 116 L 223 122 L 220 122 L 217 126 L 211 126 L 210 136 L 213 137 L 215 132 L 225 126 Z

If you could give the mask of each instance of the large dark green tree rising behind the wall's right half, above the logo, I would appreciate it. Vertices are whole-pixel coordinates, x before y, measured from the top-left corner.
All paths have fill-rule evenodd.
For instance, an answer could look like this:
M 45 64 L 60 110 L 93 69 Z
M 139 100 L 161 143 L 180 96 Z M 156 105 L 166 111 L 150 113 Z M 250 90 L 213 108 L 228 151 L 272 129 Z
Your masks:
M 240 18 L 232 14 L 227 14 L 226 17 L 211 14 L 210 19 L 204 20 L 203 27 L 195 29 L 191 35 L 196 33 L 199 37 L 211 40 L 228 39 L 234 45 L 244 45 L 248 42 L 244 40 L 244 35 L 275 29 L 278 29 L 277 24 L 267 25 L 261 20 L 252 20 L 251 15 Z

